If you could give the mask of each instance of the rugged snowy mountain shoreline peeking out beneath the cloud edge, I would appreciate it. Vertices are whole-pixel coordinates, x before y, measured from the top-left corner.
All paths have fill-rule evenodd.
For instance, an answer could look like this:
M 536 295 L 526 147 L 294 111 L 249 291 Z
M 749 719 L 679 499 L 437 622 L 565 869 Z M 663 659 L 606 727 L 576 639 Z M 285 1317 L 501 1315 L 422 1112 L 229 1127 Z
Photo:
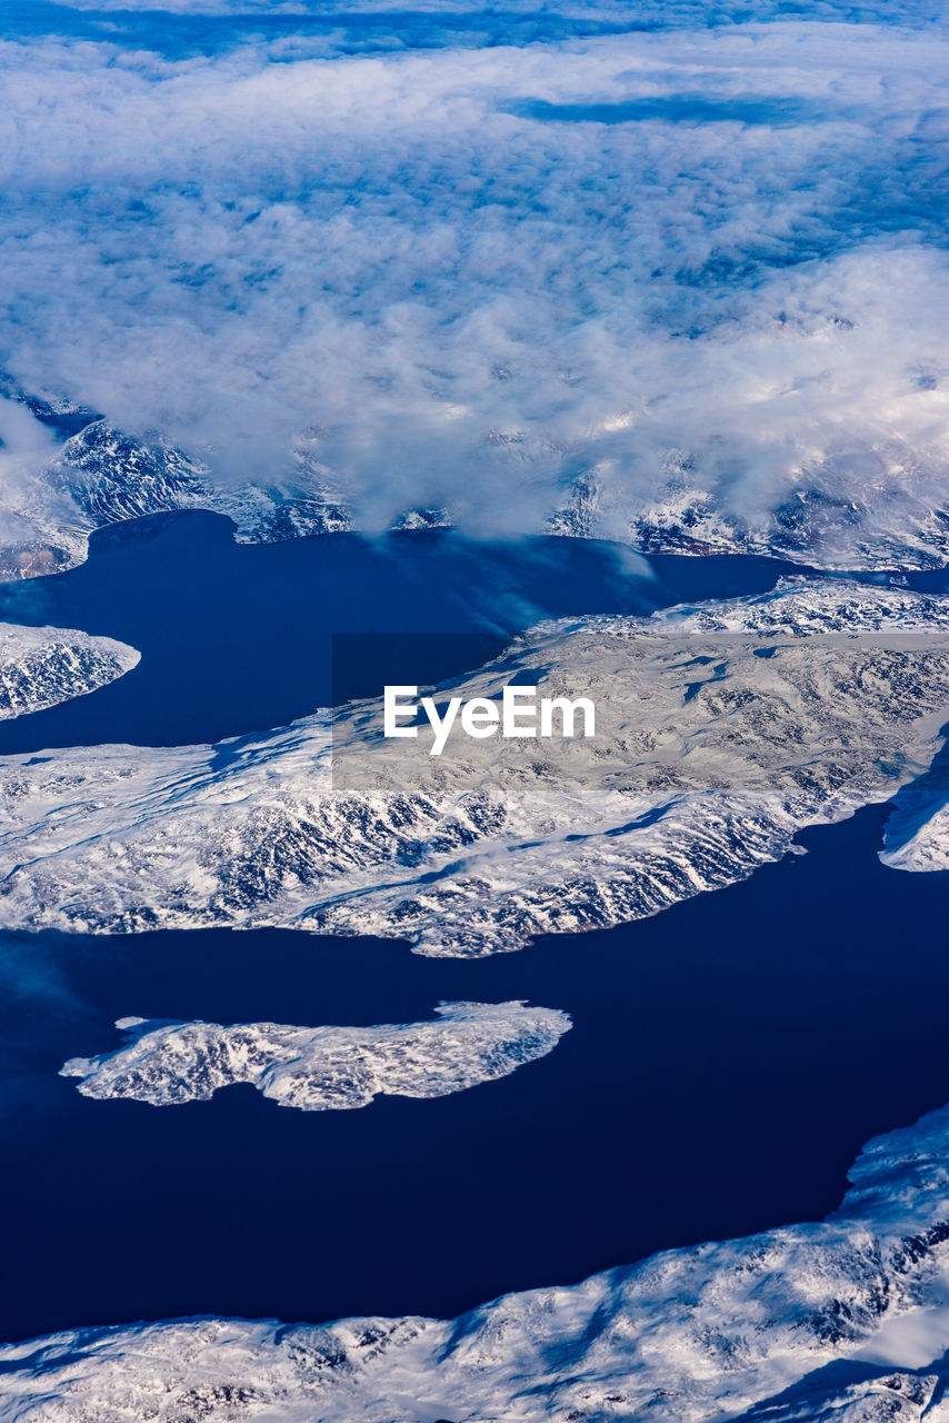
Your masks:
M 498 453 L 492 445 L 492 457 Z M 511 458 L 524 460 L 515 445 Z M 936 481 L 931 481 L 936 488 Z M 583 475 L 561 509 L 538 517 L 534 532 L 610 538 L 643 554 L 751 554 L 828 572 L 905 571 L 949 562 L 949 512 L 903 490 L 882 509 L 852 494 L 801 487 L 764 522 L 746 524 L 703 490 L 670 478 L 653 498 L 626 499 L 617 519 L 595 474 Z M 600 507 L 602 505 L 602 507 Z M 319 440 L 297 443 L 287 468 L 270 482 L 215 478 L 199 460 L 161 434 L 135 440 L 104 418 L 90 418 L 57 458 L 11 488 L 0 541 L 0 576 L 33 578 L 84 562 L 97 529 L 149 514 L 208 509 L 236 525 L 239 542 L 285 542 L 360 527 L 344 484 L 322 461 Z M 442 528 L 451 507 L 405 508 L 393 527 Z

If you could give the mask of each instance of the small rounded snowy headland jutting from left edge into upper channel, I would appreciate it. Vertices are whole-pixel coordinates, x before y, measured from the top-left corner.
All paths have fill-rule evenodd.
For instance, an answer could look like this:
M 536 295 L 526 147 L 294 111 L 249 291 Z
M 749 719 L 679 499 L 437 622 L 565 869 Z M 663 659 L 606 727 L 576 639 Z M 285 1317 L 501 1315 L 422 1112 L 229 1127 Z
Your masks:
M 95 692 L 131 672 L 138 660 L 134 647 L 111 638 L 0 623 L 0 719 Z

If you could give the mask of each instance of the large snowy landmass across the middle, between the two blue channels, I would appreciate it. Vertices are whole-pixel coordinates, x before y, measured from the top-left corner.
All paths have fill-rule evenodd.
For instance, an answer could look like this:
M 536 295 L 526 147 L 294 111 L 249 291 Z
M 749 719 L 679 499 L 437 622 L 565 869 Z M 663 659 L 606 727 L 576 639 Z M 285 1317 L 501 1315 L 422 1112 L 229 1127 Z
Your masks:
M 542 625 L 451 694 L 596 702 L 593 740 L 381 737 L 381 697 L 218 746 L 0 764 L 0 924 L 289 926 L 478 955 L 733 884 L 889 800 L 949 719 L 949 599 L 848 581 Z M 333 736 L 330 736 L 333 730 Z

